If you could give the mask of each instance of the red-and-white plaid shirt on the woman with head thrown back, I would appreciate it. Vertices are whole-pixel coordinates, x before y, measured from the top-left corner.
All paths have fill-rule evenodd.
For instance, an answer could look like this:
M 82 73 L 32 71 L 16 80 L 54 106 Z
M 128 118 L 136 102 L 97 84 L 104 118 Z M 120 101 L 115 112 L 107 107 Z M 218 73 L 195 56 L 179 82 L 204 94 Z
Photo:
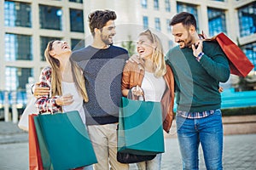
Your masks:
M 44 69 L 41 71 L 39 82 L 39 87 L 51 89 L 51 68 L 49 66 L 44 67 Z M 56 105 L 55 103 L 55 99 L 57 98 L 59 98 L 59 96 L 50 97 L 50 95 L 44 95 L 38 98 L 35 105 L 38 107 L 39 113 L 41 114 L 46 112 L 61 112 L 61 106 Z

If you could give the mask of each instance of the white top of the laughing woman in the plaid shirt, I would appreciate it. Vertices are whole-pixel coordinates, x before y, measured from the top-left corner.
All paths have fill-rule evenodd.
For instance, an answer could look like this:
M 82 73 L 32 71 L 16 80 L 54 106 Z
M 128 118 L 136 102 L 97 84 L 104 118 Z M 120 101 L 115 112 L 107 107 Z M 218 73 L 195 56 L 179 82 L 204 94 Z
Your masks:
M 79 94 L 77 88 L 75 87 L 74 82 L 62 82 L 62 94 L 72 94 L 73 95 L 73 103 L 71 105 L 63 105 L 63 112 L 66 111 L 79 111 L 79 115 L 81 116 L 82 121 L 85 124 L 85 115 L 83 103 L 84 99 L 82 95 Z

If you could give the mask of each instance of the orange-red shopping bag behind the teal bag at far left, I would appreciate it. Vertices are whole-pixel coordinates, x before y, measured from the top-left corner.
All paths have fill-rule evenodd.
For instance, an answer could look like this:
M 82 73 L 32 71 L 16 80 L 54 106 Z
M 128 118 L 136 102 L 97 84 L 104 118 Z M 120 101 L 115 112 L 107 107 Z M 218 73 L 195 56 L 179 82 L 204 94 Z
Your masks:
M 41 153 L 40 153 L 40 149 L 39 149 L 39 144 L 38 144 L 38 135 L 36 132 L 36 127 L 35 127 L 33 116 L 37 116 L 37 115 L 32 114 L 32 115 L 28 116 L 29 169 L 30 170 L 44 170 Z

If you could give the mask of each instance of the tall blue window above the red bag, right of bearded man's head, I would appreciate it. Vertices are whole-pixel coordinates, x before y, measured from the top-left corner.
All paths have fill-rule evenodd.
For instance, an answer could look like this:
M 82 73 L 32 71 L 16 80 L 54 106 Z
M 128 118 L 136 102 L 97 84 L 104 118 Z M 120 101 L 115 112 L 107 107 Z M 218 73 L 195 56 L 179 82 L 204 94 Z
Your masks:
M 225 12 L 222 9 L 208 8 L 209 36 L 216 36 L 220 32 L 227 33 Z

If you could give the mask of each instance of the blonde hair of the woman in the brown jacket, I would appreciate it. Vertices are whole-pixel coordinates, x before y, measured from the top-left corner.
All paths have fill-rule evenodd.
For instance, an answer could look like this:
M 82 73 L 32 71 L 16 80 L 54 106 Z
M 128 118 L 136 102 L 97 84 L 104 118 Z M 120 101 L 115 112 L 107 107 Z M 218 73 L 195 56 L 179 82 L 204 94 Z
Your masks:
M 153 43 L 154 50 L 151 59 L 154 63 L 154 76 L 164 76 L 166 74 L 166 61 L 160 38 L 150 30 L 143 31 L 139 36 L 146 36 Z

